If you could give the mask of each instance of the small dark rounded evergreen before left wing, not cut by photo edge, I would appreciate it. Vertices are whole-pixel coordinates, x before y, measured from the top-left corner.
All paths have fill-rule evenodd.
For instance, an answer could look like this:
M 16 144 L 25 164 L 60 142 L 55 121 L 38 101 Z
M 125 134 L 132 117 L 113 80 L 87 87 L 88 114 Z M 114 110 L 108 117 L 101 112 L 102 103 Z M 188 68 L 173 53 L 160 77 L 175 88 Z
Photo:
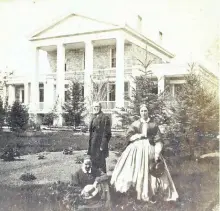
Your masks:
M 19 101 L 15 101 L 9 111 L 8 124 L 12 131 L 24 131 L 29 120 L 28 110 Z

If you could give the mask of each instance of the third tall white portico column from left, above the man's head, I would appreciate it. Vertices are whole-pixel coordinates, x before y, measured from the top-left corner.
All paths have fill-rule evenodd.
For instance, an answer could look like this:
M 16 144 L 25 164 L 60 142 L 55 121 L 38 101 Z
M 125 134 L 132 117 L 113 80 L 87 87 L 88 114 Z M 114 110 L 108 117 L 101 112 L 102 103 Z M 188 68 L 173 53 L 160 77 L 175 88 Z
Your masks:
M 84 72 L 84 98 L 88 103 L 91 100 L 92 81 L 91 76 L 93 72 L 93 43 L 92 41 L 85 42 L 85 72 Z

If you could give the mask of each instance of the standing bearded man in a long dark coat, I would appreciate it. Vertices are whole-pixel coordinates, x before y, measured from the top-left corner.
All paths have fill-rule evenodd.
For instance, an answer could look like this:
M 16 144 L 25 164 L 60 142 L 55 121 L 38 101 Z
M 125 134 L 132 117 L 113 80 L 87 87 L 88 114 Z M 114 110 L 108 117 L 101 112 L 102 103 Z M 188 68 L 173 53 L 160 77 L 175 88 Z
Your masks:
M 108 116 L 102 112 L 101 104 L 93 103 L 93 117 L 89 126 L 89 149 L 92 164 L 106 173 L 106 158 L 109 155 L 108 143 L 111 138 L 111 123 Z

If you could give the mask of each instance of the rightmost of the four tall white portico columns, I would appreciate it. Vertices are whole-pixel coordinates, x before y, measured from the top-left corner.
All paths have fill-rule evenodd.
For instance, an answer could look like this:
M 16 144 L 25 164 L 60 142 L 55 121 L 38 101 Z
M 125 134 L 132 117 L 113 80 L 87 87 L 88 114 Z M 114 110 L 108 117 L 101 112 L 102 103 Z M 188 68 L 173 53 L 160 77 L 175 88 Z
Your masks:
M 124 37 L 116 38 L 116 107 L 124 107 Z

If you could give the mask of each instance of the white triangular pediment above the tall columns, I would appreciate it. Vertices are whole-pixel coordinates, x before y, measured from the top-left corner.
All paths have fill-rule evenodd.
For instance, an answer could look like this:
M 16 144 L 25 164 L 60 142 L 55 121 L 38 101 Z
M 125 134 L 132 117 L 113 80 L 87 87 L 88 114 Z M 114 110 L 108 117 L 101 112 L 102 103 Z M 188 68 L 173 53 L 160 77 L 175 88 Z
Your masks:
M 116 27 L 117 26 L 114 24 L 101 22 L 81 15 L 71 14 L 39 31 L 38 33 L 35 33 L 31 37 L 31 40 L 91 33 L 96 31 L 110 30 Z

